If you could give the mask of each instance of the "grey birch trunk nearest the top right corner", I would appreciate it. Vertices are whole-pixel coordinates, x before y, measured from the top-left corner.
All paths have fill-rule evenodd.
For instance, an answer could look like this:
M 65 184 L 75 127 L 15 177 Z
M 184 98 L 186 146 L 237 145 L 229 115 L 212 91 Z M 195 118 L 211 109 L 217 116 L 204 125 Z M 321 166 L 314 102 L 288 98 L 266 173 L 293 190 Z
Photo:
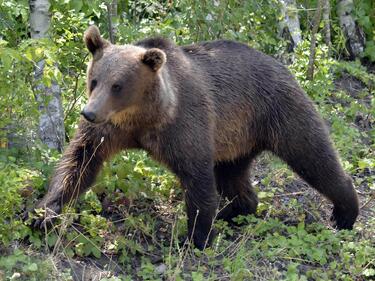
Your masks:
M 337 15 L 340 19 L 341 29 L 346 37 L 346 47 L 351 59 L 360 56 L 365 45 L 363 31 L 352 17 L 353 8 L 353 0 L 339 0 L 337 3 Z

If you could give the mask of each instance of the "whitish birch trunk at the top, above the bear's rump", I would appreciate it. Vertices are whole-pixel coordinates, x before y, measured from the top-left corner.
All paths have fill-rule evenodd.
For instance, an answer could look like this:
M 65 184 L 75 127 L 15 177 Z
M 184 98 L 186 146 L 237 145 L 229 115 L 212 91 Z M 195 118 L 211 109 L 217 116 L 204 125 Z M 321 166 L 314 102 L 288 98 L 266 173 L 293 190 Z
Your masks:
M 292 38 L 293 49 L 301 42 L 301 28 L 299 24 L 298 11 L 296 7 L 295 0 L 279 0 L 281 4 L 281 17 L 282 21 L 279 26 L 281 32 L 284 33 L 285 30 L 289 32 Z

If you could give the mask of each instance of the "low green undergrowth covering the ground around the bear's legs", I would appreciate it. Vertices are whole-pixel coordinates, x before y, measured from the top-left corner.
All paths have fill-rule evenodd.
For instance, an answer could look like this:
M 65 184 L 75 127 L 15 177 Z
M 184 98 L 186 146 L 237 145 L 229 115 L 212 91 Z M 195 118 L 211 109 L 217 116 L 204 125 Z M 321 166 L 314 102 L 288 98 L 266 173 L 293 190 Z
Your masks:
M 260 199 L 257 215 L 237 218 L 241 226 L 217 221 L 213 246 L 198 251 L 184 243 L 186 217 L 178 180 L 139 151 L 106 163 L 93 188 L 64 209 L 54 228 L 36 231 L 23 222 L 22 212 L 45 192 L 59 155 L 43 148 L 4 151 L 0 277 L 72 280 L 75 267 L 62 260 L 102 259 L 101 280 L 374 278 L 374 75 L 358 62 L 326 58 L 323 47 L 317 52 L 315 80 L 307 81 L 308 46 L 299 46 L 290 68 L 329 120 L 333 142 L 357 186 L 362 209 L 353 231 L 333 230 L 329 202 L 266 154 L 253 174 Z M 339 89 L 335 81 L 342 75 L 361 81 L 361 90 Z M 32 157 L 27 160 L 26 155 Z

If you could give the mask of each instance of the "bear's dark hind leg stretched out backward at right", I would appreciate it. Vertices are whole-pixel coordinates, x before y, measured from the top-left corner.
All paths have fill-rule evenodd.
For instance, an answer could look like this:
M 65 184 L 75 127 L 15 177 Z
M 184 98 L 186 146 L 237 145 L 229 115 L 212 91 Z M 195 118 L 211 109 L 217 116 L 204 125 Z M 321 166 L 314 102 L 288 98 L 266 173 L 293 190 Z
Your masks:
M 313 129 L 282 138 L 274 152 L 333 203 L 332 218 L 338 229 L 352 229 L 359 212 L 352 180 L 341 167 L 323 125 Z

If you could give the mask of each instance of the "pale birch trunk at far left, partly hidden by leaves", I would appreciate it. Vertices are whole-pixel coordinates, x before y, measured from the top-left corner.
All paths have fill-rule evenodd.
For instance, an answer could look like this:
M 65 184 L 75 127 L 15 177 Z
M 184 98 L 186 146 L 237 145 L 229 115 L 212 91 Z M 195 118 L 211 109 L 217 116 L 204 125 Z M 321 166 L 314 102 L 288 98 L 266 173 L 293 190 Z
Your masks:
M 29 0 L 31 38 L 48 38 L 50 3 L 48 0 Z M 47 87 L 42 82 L 45 60 L 35 67 L 35 91 L 39 105 L 39 136 L 49 148 L 62 150 L 65 137 L 61 90 L 56 82 Z

